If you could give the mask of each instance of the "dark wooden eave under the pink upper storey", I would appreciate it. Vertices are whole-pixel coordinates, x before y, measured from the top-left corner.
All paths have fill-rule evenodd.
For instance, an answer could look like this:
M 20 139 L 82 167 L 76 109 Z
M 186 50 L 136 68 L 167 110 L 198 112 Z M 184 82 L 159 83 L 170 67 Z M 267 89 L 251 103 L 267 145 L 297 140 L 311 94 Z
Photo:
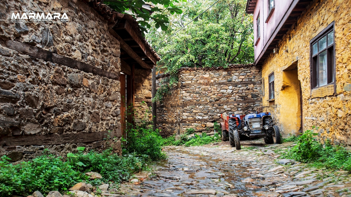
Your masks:
M 248 4 L 249 4 L 248 0 Z M 254 1 L 254 0 L 252 0 Z M 274 30 L 271 37 L 268 39 L 267 45 L 264 46 L 257 60 L 255 61 L 255 66 L 261 66 L 263 62 L 267 59 L 273 49 L 277 46 L 279 40 L 283 39 L 283 36 L 291 28 L 291 26 L 297 22 L 299 16 L 306 11 L 307 7 L 311 4 L 313 0 L 294 0 L 282 20 L 279 22 L 277 28 Z

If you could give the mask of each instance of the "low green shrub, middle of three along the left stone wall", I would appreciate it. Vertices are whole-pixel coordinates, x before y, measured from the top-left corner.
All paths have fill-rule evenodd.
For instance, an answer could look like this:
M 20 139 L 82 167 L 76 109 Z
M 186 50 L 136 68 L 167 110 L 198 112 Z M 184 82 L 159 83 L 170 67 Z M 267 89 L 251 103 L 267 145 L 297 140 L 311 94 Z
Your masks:
M 87 154 L 78 154 L 78 161 L 84 163 L 84 171 L 94 171 L 101 174 L 102 179 L 98 182 L 122 182 L 128 181 L 133 172 L 139 172 L 146 168 L 147 155 L 136 156 L 127 154 L 119 156 L 113 154 L 111 149 L 98 153 L 90 151 Z M 99 184 L 99 183 L 95 183 Z

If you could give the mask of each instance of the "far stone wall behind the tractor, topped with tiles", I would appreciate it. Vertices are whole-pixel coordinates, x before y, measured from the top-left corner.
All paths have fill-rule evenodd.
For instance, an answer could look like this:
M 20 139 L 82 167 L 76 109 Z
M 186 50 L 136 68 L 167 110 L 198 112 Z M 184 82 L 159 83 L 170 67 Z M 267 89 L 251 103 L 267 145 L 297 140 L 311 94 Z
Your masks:
M 159 76 L 160 83 L 167 76 Z M 261 106 L 261 72 L 252 64 L 229 68 L 182 68 L 178 86 L 157 104 L 163 136 L 187 128 L 212 133 L 220 114 L 244 114 Z

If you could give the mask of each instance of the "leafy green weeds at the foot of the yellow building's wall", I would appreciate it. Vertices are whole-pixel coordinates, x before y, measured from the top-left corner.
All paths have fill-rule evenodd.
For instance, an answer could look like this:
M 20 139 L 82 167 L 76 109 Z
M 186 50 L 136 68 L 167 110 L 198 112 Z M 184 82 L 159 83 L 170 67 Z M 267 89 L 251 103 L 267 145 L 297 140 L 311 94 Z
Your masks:
M 322 145 L 316 141 L 316 135 L 313 130 L 305 131 L 298 137 L 297 145 L 283 153 L 282 158 L 309 163 L 311 167 L 351 171 L 351 152 L 329 141 Z

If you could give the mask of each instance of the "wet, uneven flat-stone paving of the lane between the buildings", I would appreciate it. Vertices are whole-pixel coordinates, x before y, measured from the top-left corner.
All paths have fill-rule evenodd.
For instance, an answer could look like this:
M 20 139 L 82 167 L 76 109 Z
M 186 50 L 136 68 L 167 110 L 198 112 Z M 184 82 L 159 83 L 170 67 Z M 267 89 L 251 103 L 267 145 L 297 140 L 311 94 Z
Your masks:
M 347 171 L 326 171 L 306 164 L 277 159 L 292 142 L 264 144 L 241 141 L 242 150 L 228 142 L 201 147 L 165 147 L 167 161 L 140 182 L 122 184 L 119 196 L 351 196 Z M 279 164 L 279 163 L 281 164 Z M 108 196 L 108 195 L 106 195 Z

